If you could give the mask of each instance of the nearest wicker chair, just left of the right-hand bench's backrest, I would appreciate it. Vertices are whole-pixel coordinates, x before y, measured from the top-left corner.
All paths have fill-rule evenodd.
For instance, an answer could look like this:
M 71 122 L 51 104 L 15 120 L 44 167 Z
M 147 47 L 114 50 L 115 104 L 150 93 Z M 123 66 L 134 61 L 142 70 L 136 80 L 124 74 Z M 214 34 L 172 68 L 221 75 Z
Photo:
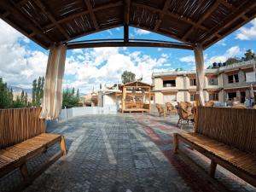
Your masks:
M 194 115 L 191 112 L 192 104 L 189 102 L 179 102 L 177 103 L 177 114 L 178 121 L 177 127 L 183 128 L 183 125 L 194 125 Z

